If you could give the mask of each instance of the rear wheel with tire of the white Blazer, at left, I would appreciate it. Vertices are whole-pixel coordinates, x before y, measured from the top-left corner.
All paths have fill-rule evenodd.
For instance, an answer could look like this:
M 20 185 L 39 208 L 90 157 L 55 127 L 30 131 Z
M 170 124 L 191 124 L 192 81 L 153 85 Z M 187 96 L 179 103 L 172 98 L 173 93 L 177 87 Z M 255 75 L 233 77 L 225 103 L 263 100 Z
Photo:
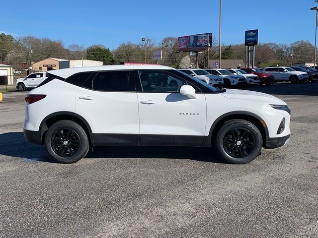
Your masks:
M 60 120 L 48 129 L 45 147 L 53 159 L 70 164 L 79 161 L 88 153 L 89 140 L 78 123 Z

